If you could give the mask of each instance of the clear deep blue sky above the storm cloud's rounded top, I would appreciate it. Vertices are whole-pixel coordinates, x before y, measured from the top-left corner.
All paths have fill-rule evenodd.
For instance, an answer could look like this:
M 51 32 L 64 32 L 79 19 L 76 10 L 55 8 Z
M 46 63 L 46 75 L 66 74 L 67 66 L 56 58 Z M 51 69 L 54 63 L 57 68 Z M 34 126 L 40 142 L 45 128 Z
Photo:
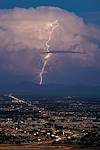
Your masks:
M 100 0 L 0 0 L 0 9 L 38 6 L 59 7 L 100 24 Z

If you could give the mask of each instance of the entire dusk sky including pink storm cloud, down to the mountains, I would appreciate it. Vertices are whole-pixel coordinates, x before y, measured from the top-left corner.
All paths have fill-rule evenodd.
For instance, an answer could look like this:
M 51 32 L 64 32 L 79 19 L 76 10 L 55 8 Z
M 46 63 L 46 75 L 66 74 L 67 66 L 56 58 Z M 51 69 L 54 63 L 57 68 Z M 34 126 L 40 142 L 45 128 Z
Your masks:
M 0 0 L 0 84 L 39 83 L 41 53 L 56 18 L 60 27 L 50 48 L 86 54 L 52 56 L 43 83 L 100 85 L 100 0 Z

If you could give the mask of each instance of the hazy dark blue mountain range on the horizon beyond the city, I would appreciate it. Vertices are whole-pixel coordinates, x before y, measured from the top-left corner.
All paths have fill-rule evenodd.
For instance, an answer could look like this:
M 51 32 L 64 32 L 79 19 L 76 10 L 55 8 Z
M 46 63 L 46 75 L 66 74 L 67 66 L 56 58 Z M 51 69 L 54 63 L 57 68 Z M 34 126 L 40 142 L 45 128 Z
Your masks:
M 97 96 L 100 97 L 100 86 L 63 84 L 38 85 L 33 82 L 19 84 L 1 84 L 0 93 L 14 93 L 34 96 Z

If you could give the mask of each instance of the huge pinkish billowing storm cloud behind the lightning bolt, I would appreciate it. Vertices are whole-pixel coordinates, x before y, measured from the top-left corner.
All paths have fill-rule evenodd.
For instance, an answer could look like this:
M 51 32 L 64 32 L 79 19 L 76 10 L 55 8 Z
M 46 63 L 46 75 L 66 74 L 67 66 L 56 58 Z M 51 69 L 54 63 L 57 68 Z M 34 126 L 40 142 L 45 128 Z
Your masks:
M 74 13 L 55 7 L 0 10 L 0 70 L 38 74 L 50 23 L 58 20 L 52 34 L 52 50 L 73 50 L 86 54 L 60 54 L 50 62 L 67 61 L 81 66 L 100 66 L 100 28 L 86 24 Z M 50 63 L 49 62 L 49 63 Z M 55 66 L 55 65 L 54 65 Z

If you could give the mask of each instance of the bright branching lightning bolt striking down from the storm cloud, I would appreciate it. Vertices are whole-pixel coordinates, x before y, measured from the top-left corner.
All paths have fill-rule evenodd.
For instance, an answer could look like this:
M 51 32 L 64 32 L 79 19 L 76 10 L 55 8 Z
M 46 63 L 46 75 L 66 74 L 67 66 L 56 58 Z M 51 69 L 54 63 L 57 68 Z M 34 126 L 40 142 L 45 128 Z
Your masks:
M 50 23 L 50 33 L 49 33 L 48 40 L 45 43 L 44 51 L 50 52 L 49 51 L 49 49 L 50 49 L 49 42 L 51 41 L 52 34 L 53 34 L 54 30 L 58 26 L 59 26 L 58 20 L 55 20 L 54 22 Z M 49 53 L 49 54 L 45 55 L 45 57 L 44 57 L 44 63 L 43 63 L 43 66 L 42 66 L 42 69 L 41 69 L 41 72 L 40 72 L 40 85 L 42 85 L 42 83 L 43 83 L 44 71 L 45 71 L 46 65 L 48 64 L 48 60 L 51 58 L 51 56 L 52 56 L 52 54 Z

